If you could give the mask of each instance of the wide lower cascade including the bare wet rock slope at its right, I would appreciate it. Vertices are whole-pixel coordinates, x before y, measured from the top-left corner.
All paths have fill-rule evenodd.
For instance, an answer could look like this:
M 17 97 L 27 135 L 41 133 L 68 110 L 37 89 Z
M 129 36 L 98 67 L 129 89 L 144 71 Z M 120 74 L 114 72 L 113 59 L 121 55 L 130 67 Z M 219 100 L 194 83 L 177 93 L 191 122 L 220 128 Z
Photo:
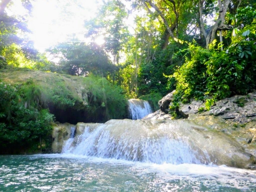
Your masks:
M 158 164 L 240 166 L 239 158 L 241 163 L 250 159 L 233 140 L 186 120 L 110 120 L 93 129 L 85 127 L 83 134 L 66 141 L 62 152 Z M 236 165 L 234 158 L 238 159 Z

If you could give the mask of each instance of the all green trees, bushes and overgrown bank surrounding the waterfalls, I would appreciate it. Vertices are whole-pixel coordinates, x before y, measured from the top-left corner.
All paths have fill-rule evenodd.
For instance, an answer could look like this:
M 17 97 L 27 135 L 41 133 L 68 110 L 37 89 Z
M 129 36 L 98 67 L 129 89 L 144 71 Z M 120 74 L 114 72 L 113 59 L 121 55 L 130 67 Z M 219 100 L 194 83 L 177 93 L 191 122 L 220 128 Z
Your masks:
M 173 111 L 192 98 L 206 101 L 207 110 L 255 89 L 255 0 L 104 1 L 85 18 L 87 42 L 70 34 L 45 53 L 28 38 L 33 1 L 21 2 L 23 16 L 7 14 L 10 0 L 0 3 L 0 145 L 30 138 L 42 148 L 52 114 L 60 122 L 105 122 L 126 117 L 128 98 L 157 110 L 175 89 Z

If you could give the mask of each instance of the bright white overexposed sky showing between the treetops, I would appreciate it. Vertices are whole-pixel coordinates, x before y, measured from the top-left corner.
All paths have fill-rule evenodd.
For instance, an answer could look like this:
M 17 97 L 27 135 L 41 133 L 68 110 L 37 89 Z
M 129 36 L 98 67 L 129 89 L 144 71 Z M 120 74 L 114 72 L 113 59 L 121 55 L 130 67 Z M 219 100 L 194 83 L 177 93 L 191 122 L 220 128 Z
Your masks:
M 26 14 L 21 0 L 12 2 L 13 6 L 7 10 L 9 15 Z M 34 41 L 35 48 L 44 52 L 50 46 L 66 41 L 72 34 L 81 42 L 88 41 L 84 38 L 84 20 L 96 17 L 97 9 L 102 4 L 102 0 L 34 0 L 28 28 L 32 32 L 29 37 Z M 128 20 L 133 25 L 133 18 Z M 99 37 L 96 43 L 104 43 L 103 37 Z

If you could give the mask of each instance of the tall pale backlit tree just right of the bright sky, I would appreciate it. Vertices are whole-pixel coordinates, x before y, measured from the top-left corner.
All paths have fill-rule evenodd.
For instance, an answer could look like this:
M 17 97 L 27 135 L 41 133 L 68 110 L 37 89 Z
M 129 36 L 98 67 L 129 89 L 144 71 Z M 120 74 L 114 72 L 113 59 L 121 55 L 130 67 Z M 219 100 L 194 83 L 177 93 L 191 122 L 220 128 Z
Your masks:
M 102 6 L 97 18 L 85 22 L 86 37 L 92 40 L 103 37 L 104 44 L 102 47 L 109 54 L 112 64 L 117 66 L 115 67 L 116 72 L 112 74 L 109 80 L 118 85 L 121 85 L 120 55 L 129 38 L 126 25 L 127 17 L 125 5 L 120 0 L 111 0 Z

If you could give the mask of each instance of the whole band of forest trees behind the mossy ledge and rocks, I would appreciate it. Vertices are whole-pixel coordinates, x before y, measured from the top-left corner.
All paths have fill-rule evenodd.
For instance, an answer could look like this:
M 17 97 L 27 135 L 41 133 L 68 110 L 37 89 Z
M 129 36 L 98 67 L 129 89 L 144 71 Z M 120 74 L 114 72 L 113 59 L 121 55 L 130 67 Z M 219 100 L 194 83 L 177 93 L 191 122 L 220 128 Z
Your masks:
M 29 15 L 9 16 L 11 2 L 0 4 L 0 54 L 9 64 L 27 60 L 23 66 L 34 69 L 98 75 L 127 97 L 177 89 L 180 99 L 219 99 L 254 88 L 255 0 L 102 1 L 95 17 L 84 18 L 85 40 L 73 35 L 47 57 L 20 35 L 29 32 Z M 22 3 L 33 10 L 31 1 Z

